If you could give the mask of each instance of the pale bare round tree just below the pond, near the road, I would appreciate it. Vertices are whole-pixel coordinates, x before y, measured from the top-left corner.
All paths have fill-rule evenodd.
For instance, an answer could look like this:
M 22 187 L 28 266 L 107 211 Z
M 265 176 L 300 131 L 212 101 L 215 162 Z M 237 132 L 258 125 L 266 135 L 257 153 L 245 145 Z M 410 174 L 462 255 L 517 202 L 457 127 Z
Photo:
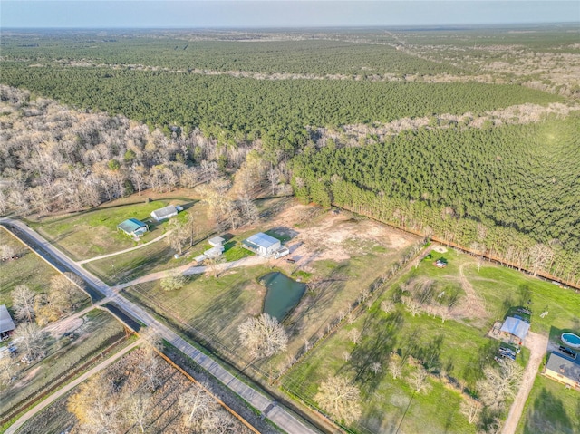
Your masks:
M 237 327 L 237 331 L 240 342 L 252 357 L 269 357 L 286 350 L 288 336 L 284 327 L 267 313 L 248 318 Z

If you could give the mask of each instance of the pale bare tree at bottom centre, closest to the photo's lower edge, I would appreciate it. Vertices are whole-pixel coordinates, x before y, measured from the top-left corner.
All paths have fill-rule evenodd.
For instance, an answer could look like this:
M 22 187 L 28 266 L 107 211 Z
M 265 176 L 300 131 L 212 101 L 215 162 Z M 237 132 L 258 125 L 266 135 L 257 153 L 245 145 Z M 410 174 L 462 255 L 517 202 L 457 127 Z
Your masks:
M 337 420 L 350 424 L 361 417 L 361 393 L 350 380 L 330 376 L 318 388 L 314 400 Z

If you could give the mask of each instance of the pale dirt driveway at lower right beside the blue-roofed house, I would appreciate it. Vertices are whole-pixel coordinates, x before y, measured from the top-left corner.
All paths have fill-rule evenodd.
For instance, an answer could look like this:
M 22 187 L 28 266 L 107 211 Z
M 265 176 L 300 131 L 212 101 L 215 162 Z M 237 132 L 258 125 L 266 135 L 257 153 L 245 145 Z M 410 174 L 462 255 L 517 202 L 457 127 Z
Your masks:
M 519 386 L 519 391 L 517 391 L 516 399 L 511 405 L 511 409 L 509 409 L 506 424 L 501 431 L 502 434 L 514 434 L 516 432 L 517 423 L 519 423 L 522 417 L 527 397 L 536 380 L 537 370 L 546 355 L 547 344 L 548 338 L 546 336 L 533 332 L 527 333 L 524 345 L 530 350 L 529 361 L 527 362 L 526 371 L 524 371 L 524 378 Z

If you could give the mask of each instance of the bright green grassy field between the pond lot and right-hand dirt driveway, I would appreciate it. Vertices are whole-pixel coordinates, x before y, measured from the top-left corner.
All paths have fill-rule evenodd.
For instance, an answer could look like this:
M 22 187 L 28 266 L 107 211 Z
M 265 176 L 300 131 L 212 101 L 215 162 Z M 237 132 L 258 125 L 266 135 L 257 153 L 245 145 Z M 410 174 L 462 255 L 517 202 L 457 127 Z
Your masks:
M 432 265 L 440 257 L 448 260 L 447 267 Z M 468 284 L 459 277 L 460 272 Z M 467 318 L 460 317 L 459 313 L 455 320 L 442 323 L 439 317 L 424 312 L 413 316 L 401 304 L 396 304 L 391 313 L 382 312 L 380 303 L 396 301 L 401 294 L 399 285 L 421 278 L 431 280 L 437 288 L 435 294 L 459 288 L 459 304 L 467 296 L 465 285 L 472 285 L 485 301 L 485 314 L 481 318 Z M 499 342 L 486 337 L 486 333 L 494 320 L 503 319 L 511 306 L 527 305 L 528 300 L 536 311 L 532 315 L 532 330 L 547 334 L 551 324 L 556 324 L 558 330 L 577 327 L 580 302 L 573 291 L 496 265 L 482 265 L 478 271 L 472 256 L 453 251 L 433 252 L 430 258 L 403 275 L 398 285 L 392 285 L 370 310 L 333 334 L 289 371 L 282 384 L 290 394 L 314 403 L 318 385 L 328 375 L 343 374 L 351 378 L 362 392 L 362 418 L 351 427 L 358 432 L 394 432 L 399 423 L 402 432 L 475 432 L 475 426 L 469 425 L 459 413 L 462 400 L 459 391 L 462 387 L 473 390 L 483 367 L 493 362 Z M 548 310 L 546 305 L 554 314 L 542 320 L 537 313 Z M 352 329 L 362 333 L 362 340 L 356 345 L 349 337 Z M 413 396 L 406 381 L 392 379 L 388 362 L 395 352 L 403 359 L 411 356 L 411 361 L 421 361 L 437 374 L 430 379 L 429 393 Z M 350 360 L 345 360 L 345 354 Z M 524 349 L 518 362 L 525 365 L 528 357 L 529 352 Z M 381 364 L 381 372 L 371 371 L 373 362 Z M 409 377 L 414 369 L 405 364 L 402 378 Z M 448 387 L 449 382 L 455 387 Z M 410 401 L 411 406 L 405 413 Z M 441 402 L 446 405 L 442 407 Z

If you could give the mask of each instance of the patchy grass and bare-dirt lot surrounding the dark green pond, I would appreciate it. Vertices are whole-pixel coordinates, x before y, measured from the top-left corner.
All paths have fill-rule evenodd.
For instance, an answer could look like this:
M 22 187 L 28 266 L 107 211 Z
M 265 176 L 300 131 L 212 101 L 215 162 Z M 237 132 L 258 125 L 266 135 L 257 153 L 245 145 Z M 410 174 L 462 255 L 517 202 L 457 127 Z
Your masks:
M 373 241 L 372 246 L 376 248 L 366 252 L 361 249 L 361 240 L 357 241 L 358 235 L 353 232 L 347 239 L 339 239 L 335 249 L 340 248 L 342 256 L 337 256 L 336 251 L 319 245 L 315 238 L 318 232 L 332 233 L 326 227 L 333 223 L 335 217 L 319 212 L 317 217 L 309 219 L 308 224 L 298 228 L 292 224 L 293 218 L 300 215 L 296 208 L 301 209 L 291 205 L 278 216 L 271 216 L 255 227 L 228 234 L 225 256 L 227 260 L 246 256 L 246 251 L 239 247 L 241 240 L 258 231 L 268 231 L 271 235 L 284 237 L 288 246 L 298 246 L 293 247 L 293 256 L 301 257 L 302 262 L 290 264 L 282 258 L 271 260 L 266 265 L 230 269 L 217 279 L 208 275 L 191 276 L 188 285 L 176 292 L 164 292 L 159 282 L 153 282 L 128 288 L 126 294 L 178 326 L 184 333 L 209 342 L 238 367 L 244 367 L 248 361 L 245 351 L 239 348 L 237 326 L 248 316 L 262 312 L 266 289 L 257 283 L 259 277 L 271 271 L 281 271 L 295 279 L 310 282 L 310 290 L 284 322 L 290 335 L 288 351 L 268 362 L 255 363 L 256 369 L 263 372 L 270 371 L 270 368 L 274 371 L 282 369 L 289 354 L 299 353 L 304 340 L 317 340 L 339 311 L 352 305 L 364 288 L 372 285 L 394 262 L 400 261 L 412 246 L 411 237 L 397 238 L 401 245 L 395 247 L 389 244 L 391 238 L 385 236 Z M 289 220 L 282 225 L 280 219 L 285 217 Z M 359 228 L 362 232 L 372 227 L 386 230 L 368 220 L 359 223 L 351 222 L 349 216 L 340 218 L 348 226 L 335 226 L 343 232 L 348 232 L 346 229 L 350 227 Z M 309 243 L 317 246 L 315 253 Z M 370 242 L 366 243 L 368 245 Z M 235 256 L 229 252 L 234 252 Z

